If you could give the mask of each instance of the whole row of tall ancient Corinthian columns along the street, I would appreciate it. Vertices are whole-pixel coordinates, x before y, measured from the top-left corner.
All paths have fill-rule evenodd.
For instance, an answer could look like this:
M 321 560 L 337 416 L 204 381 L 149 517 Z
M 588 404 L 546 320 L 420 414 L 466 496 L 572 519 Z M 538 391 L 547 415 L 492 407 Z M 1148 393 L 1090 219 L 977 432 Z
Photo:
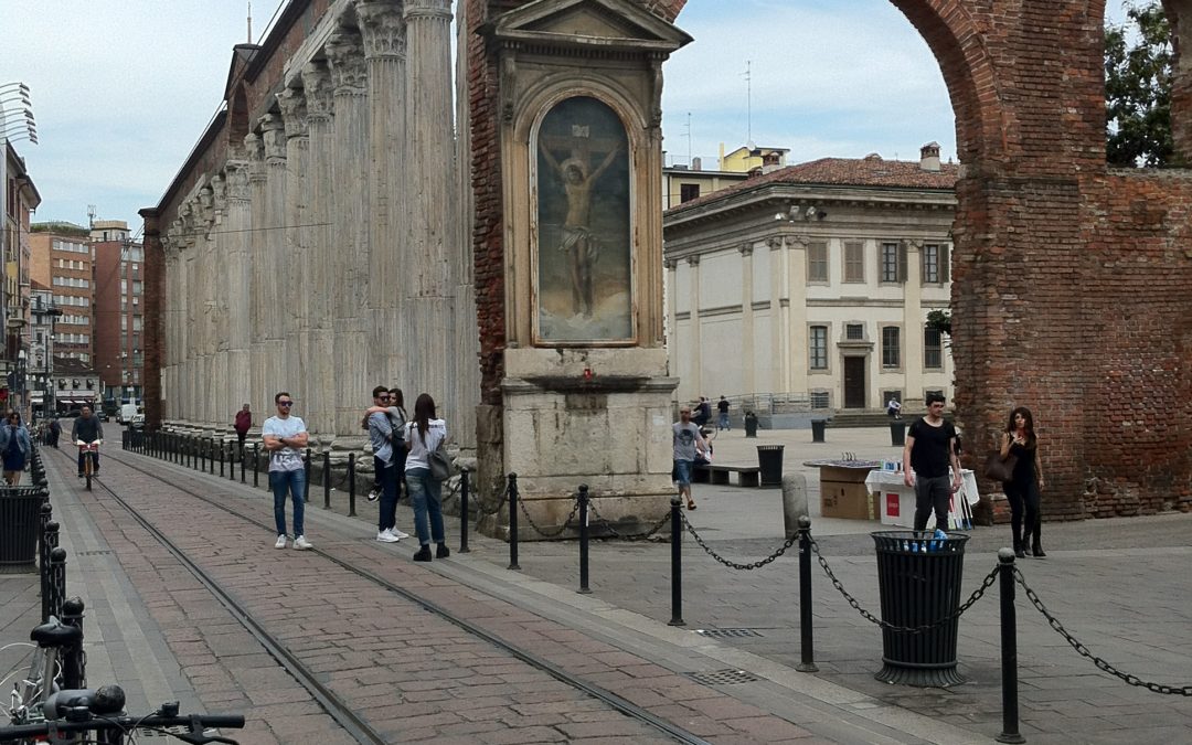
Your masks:
M 360 435 L 385 384 L 472 440 L 451 0 L 348 10 L 164 236 L 167 421 L 226 427 L 243 403 L 260 421 L 284 390 L 324 440 Z

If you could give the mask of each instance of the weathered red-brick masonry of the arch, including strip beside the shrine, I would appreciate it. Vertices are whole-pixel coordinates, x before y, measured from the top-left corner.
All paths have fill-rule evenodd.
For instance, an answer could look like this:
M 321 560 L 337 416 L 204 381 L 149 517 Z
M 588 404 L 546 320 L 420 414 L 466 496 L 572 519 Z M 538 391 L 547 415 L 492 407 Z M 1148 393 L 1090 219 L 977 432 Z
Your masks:
M 956 113 L 954 403 L 968 465 L 1025 405 L 1045 448 L 1049 519 L 1192 510 L 1192 176 L 1106 170 L 1104 4 L 892 2 L 935 54 Z M 523 4 L 468 0 L 471 26 Z M 688 1 L 641 5 L 682 26 Z M 1165 0 L 1169 17 L 1186 5 Z M 473 244 L 493 404 L 504 346 L 498 86 L 492 50 L 471 38 Z M 1192 94 L 1175 97 L 1185 154 L 1190 107 Z

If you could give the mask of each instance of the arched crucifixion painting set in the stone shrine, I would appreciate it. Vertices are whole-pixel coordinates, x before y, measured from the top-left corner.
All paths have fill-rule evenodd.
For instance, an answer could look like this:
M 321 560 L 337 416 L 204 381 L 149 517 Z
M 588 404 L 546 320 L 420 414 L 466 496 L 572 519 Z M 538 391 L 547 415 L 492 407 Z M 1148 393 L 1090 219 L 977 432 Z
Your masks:
M 632 337 L 629 157 L 606 104 L 555 105 L 538 136 L 538 337 Z

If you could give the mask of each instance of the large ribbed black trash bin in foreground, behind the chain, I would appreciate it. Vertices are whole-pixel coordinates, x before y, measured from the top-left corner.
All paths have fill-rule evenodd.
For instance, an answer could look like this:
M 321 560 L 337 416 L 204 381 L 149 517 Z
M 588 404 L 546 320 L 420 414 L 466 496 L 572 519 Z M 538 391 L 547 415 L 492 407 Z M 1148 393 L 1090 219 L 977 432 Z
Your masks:
M 877 550 L 883 621 L 914 628 L 956 613 L 968 535 L 933 539 L 914 530 L 870 535 Z M 883 628 L 883 665 L 874 677 L 884 683 L 936 688 L 964 683 L 956 671 L 958 626 L 957 616 L 918 634 Z

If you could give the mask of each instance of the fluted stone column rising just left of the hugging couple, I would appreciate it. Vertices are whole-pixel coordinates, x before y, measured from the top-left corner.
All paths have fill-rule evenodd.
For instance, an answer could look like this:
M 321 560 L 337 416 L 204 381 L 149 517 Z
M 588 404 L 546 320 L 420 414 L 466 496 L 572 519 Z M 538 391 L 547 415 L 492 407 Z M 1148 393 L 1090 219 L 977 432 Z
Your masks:
M 342 30 L 327 42 L 335 91 L 331 184 L 334 250 L 331 294 L 336 368 L 335 434 L 360 437 L 361 404 L 368 403 L 368 97 L 360 35 Z

